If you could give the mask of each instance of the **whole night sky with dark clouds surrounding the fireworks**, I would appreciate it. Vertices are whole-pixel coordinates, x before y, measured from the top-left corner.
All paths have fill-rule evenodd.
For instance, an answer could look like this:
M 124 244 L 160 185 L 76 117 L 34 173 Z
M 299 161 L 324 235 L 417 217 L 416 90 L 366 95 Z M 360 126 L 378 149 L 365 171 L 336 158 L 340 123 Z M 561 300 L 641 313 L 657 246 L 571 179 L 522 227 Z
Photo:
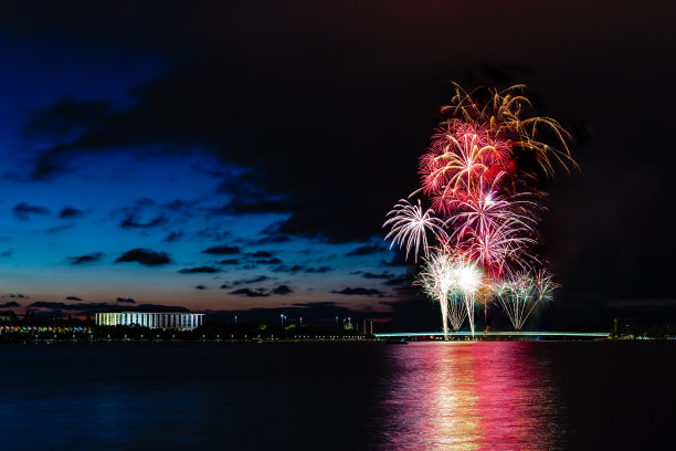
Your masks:
M 556 303 L 675 303 L 674 9 L 592 3 L 7 6 L 0 307 L 415 327 L 381 226 L 452 81 L 526 83 L 574 136 L 540 227 Z

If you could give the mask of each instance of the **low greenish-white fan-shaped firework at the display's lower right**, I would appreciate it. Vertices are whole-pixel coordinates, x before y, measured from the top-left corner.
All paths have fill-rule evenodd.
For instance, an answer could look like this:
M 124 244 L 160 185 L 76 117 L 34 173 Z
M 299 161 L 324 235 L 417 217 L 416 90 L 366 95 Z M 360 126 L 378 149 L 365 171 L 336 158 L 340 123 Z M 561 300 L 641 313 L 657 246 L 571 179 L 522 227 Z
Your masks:
M 551 273 L 545 270 L 519 272 L 493 286 L 516 331 L 521 329 L 539 302 L 551 298 L 553 290 L 559 286 L 551 279 Z

